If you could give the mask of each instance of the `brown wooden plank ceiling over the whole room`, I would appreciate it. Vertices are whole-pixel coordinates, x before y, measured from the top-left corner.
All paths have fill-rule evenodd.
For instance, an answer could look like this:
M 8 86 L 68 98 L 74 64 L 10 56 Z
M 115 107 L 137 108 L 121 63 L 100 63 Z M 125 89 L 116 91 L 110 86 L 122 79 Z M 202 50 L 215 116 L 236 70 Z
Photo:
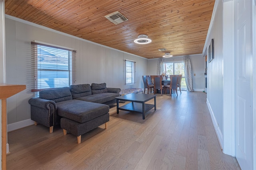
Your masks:
M 215 0 L 5 0 L 5 13 L 147 59 L 201 54 Z M 128 21 L 104 16 L 119 11 Z M 140 34 L 150 44 L 136 44 Z M 166 48 L 167 51 L 158 51 Z

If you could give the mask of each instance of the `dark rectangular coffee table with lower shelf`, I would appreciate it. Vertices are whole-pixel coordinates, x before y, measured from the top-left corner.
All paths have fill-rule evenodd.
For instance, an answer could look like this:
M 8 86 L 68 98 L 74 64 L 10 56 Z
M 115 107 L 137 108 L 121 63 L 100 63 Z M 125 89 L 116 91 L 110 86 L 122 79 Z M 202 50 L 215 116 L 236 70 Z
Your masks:
M 145 104 L 149 100 L 154 98 L 154 104 Z M 128 101 L 124 106 L 119 107 L 119 100 Z M 119 110 L 132 111 L 136 113 L 142 113 L 142 118 L 145 119 L 145 113 L 155 107 L 156 110 L 156 95 L 155 94 L 138 94 L 131 93 L 124 96 L 116 97 L 116 113 Z

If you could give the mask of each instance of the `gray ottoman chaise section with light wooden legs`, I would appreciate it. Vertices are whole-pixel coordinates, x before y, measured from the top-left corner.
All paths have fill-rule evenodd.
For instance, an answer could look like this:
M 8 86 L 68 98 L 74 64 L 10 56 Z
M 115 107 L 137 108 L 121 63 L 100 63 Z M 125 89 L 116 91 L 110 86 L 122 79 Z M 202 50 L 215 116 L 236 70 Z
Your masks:
M 64 135 L 67 131 L 77 136 L 77 143 L 81 143 L 81 135 L 104 124 L 107 128 L 109 121 L 109 106 L 81 100 L 72 100 L 68 105 L 58 102 L 60 127 Z

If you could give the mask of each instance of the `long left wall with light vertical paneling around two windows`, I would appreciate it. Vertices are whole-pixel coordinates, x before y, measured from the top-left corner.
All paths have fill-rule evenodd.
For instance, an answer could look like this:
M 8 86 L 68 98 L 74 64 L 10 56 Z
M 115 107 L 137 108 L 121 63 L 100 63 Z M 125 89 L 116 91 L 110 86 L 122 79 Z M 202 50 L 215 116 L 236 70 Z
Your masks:
M 148 74 L 148 59 L 111 49 L 58 31 L 40 27 L 10 16 L 6 17 L 6 77 L 8 84 L 25 84 L 27 89 L 7 100 L 8 131 L 33 122 L 30 120 L 28 100 L 30 90 L 30 41 L 42 41 L 73 48 L 77 51 L 76 84 L 106 82 L 107 87 L 142 88 L 142 75 Z M 137 82 L 125 86 L 123 62 L 136 61 Z

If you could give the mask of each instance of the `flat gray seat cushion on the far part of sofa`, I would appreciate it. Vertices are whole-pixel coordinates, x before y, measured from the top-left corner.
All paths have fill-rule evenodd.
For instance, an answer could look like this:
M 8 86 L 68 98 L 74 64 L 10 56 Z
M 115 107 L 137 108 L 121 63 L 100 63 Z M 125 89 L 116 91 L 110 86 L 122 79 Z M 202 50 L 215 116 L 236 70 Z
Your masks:
M 94 103 L 105 103 L 111 100 L 115 100 L 116 97 L 119 97 L 119 94 L 105 92 L 105 93 L 93 94 L 90 96 L 84 96 L 81 98 L 76 98 L 76 100 L 83 100 L 83 101 L 94 102 Z

